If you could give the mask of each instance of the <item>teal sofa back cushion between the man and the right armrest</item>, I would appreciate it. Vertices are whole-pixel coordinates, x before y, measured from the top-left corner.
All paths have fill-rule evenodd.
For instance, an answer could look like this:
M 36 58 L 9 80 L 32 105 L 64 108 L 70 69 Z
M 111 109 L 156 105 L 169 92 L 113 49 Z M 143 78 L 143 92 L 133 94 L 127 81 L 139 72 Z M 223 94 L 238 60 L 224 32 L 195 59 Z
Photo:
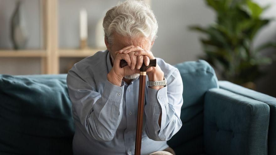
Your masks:
M 183 80 L 182 127 L 168 145 L 176 154 L 204 153 L 203 107 L 204 95 L 210 88 L 218 88 L 214 69 L 204 60 L 188 61 L 177 65 Z

